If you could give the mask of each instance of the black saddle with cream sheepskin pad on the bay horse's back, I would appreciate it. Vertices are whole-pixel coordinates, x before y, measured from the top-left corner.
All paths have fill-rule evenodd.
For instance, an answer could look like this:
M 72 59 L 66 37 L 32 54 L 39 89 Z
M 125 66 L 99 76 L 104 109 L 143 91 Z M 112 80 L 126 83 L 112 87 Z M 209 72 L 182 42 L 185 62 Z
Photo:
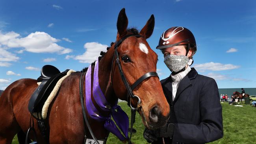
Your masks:
M 60 72 L 52 65 L 45 65 L 41 69 L 41 76 L 37 79 L 39 85 L 33 92 L 28 103 L 28 110 L 38 120 L 45 119 L 48 107 L 58 93 L 62 81 L 74 70 Z

